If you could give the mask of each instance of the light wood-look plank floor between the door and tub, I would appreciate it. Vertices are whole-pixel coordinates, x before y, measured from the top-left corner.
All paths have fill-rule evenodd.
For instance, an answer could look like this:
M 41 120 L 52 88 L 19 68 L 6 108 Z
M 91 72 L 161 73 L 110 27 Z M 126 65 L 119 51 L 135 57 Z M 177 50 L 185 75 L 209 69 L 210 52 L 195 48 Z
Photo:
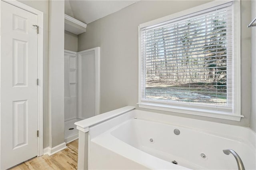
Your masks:
M 33 158 L 11 170 L 76 170 L 78 160 L 78 139 L 67 144 L 68 148 L 53 154 Z

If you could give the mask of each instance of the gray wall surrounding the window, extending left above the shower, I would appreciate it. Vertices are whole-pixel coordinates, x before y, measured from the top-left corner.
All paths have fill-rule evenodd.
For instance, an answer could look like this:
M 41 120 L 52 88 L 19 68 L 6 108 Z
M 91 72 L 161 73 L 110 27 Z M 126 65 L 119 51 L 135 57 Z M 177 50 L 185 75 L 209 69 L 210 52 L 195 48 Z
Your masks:
M 138 25 L 176 13 L 208 1 L 139 1 L 114 14 L 88 24 L 86 32 L 78 36 L 78 51 L 101 47 L 100 98 L 101 113 L 124 107 L 138 106 Z M 158 113 L 249 126 L 250 117 L 250 1 L 241 2 L 241 64 L 242 114 L 240 121 L 228 121 L 180 113 Z M 148 109 L 142 109 L 148 110 Z

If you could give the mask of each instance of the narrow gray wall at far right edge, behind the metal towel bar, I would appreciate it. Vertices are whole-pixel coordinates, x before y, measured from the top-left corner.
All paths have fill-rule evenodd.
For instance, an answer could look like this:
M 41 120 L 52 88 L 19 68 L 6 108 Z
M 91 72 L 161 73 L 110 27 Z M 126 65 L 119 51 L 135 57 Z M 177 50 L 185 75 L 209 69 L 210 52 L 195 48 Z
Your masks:
M 253 20 L 256 17 L 256 1 L 252 1 L 252 16 Z M 250 128 L 256 132 L 256 27 L 250 28 L 252 30 L 252 105 Z

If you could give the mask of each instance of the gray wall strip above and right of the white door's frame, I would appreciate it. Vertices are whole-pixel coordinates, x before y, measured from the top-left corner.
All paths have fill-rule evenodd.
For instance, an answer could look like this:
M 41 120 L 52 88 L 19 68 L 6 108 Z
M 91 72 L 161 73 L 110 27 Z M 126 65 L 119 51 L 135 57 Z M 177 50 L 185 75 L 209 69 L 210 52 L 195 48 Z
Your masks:
M 23 4 L 31 6 L 44 12 L 44 148 L 49 146 L 49 121 L 48 121 L 48 18 L 49 18 L 49 1 L 48 0 L 19 0 Z

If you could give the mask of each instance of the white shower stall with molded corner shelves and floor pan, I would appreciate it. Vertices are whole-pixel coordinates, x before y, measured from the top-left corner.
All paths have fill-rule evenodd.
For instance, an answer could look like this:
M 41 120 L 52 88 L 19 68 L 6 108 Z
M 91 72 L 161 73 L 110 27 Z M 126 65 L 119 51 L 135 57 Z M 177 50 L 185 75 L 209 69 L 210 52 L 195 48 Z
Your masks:
M 100 47 L 64 51 L 65 142 L 78 138 L 75 122 L 100 113 Z

